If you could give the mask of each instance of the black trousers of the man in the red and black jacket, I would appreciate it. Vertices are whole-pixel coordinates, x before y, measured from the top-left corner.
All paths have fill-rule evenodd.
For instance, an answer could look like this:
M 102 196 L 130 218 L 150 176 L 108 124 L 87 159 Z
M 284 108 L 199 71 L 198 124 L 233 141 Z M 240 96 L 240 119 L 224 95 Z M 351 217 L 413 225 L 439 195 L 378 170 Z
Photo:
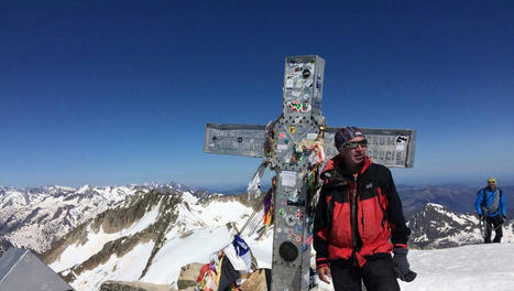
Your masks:
M 336 291 L 400 291 L 391 254 L 375 254 L 367 257 L 364 266 L 353 260 L 330 261 L 333 289 Z

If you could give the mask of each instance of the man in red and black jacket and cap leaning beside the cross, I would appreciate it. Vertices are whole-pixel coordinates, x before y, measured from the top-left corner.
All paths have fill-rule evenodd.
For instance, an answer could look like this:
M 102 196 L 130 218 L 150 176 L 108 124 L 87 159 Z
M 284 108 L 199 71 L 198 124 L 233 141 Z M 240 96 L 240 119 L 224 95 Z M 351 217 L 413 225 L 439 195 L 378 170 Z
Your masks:
M 411 229 L 391 171 L 367 154 L 368 141 L 354 127 L 336 133 L 339 154 L 327 162 L 314 218 L 319 279 L 336 291 L 400 291 L 396 278 L 412 281 L 407 261 Z M 391 251 L 394 257 L 391 257 Z

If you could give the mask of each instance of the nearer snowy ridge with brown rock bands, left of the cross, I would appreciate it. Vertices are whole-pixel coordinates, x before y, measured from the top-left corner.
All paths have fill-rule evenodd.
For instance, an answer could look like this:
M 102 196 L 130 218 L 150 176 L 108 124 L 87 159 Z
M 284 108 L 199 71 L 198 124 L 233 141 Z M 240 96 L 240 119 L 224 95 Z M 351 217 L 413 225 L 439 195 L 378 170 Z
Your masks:
M 252 213 L 245 196 L 200 200 L 188 191 L 151 190 L 86 220 L 43 258 L 77 290 L 97 290 L 106 280 L 176 284 L 181 267 L 208 262 Z M 244 234 L 261 227 L 262 215 Z M 251 239 L 254 254 L 266 257 L 271 238 Z

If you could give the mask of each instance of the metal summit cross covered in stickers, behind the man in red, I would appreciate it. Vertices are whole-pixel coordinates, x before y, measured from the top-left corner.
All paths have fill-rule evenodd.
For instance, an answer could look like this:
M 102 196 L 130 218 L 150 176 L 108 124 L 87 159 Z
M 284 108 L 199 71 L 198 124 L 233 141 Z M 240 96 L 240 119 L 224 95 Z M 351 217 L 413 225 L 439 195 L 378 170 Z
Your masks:
M 309 288 L 308 170 L 319 165 L 316 143 L 324 146 L 327 159 L 338 153 L 333 137 L 339 128 L 327 128 L 321 115 L 324 68 L 325 60 L 317 55 L 285 58 L 282 115 L 267 126 L 207 123 L 205 152 L 262 158 L 276 172 L 273 291 Z M 413 166 L 415 130 L 360 129 L 373 162 Z

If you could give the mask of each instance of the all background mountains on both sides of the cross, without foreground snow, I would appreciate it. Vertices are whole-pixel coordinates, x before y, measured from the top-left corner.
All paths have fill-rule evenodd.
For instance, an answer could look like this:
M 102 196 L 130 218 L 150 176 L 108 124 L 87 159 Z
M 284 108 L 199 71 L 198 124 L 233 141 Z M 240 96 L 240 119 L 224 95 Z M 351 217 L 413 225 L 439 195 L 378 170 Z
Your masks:
M 514 190 L 502 188 L 506 195 Z M 462 185 L 398 185 L 397 190 L 413 230 L 411 247 L 482 241 L 473 214 L 477 190 Z M 0 252 L 11 244 L 30 247 L 77 290 L 98 289 L 107 279 L 175 284 L 182 266 L 206 262 L 228 244 L 231 229 L 240 229 L 259 202 L 177 183 L 0 186 Z M 262 215 L 247 228 L 262 231 Z M 514 242 L 513 228 L 512 220 L 505 224 L 503 241 Z M 254 251 L 271 256 L 272 229 L 259 239 L 252 236 L 249 244 Z M 270 262 L 271 258 L 261 265 Z

